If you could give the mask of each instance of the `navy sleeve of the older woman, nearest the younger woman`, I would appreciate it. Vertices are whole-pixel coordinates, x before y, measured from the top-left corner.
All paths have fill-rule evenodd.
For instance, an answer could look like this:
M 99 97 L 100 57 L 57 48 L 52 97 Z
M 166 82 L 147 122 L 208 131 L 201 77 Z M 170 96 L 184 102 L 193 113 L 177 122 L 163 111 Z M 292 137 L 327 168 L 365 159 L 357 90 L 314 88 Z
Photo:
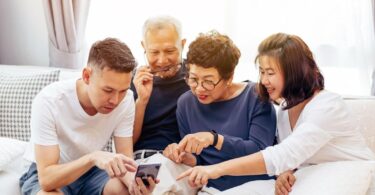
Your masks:
M 257 101 L 249 114 L 249 136 L 247 139 L 223 135 L 221 152 L 237 158 L 258 152 L 273 145 L 276 132 L 276 114 L 271 103 Z

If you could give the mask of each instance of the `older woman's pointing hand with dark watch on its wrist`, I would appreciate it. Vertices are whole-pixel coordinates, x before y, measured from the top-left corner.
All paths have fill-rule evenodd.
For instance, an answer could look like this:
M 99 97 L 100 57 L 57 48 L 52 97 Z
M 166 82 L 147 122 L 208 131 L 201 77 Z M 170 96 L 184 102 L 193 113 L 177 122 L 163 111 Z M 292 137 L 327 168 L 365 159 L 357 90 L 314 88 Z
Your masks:
M 188 134 L 178 143 L 178 149 L 199 155 L 204 148 L 212 145 L 213 142 L 214 137 L 210 132 Z

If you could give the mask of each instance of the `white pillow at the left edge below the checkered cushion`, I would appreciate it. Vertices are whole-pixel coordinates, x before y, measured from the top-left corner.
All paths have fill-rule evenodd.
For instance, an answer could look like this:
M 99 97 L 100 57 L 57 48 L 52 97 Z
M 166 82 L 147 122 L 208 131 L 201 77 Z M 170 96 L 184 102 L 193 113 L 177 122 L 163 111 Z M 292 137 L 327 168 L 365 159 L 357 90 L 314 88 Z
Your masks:
M 26 146 L 27 142 L 0 137 L 0 171 L 22 156 Z

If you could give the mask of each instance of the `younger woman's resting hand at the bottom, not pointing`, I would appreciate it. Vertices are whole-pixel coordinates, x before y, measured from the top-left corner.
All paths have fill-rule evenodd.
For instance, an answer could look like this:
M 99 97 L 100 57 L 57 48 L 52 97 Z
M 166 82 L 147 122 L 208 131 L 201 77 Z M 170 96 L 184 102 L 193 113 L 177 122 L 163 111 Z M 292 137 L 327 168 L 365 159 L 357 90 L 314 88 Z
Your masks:
M 296 181 L 293 171 L 285 171 L 280 174 L 275 183 L 275 195 L 288 195 Z

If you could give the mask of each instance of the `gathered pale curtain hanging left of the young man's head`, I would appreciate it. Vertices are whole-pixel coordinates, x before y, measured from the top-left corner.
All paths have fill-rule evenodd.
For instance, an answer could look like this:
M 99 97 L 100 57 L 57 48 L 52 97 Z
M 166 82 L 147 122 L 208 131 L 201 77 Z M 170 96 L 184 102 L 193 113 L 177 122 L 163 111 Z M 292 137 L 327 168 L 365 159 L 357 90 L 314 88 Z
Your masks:
M 90 0 L 43 0 L 49 36 L 49 64 L 81 68 Z

